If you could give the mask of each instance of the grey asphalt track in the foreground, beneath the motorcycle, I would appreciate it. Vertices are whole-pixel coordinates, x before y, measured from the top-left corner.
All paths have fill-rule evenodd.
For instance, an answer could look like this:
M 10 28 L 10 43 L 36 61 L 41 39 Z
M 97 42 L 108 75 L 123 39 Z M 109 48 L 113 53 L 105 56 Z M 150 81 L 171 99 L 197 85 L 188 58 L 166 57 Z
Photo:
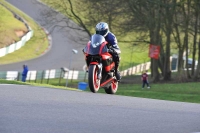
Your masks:
M 0 85 L 0 133 L 197 133 L 200 104 Z

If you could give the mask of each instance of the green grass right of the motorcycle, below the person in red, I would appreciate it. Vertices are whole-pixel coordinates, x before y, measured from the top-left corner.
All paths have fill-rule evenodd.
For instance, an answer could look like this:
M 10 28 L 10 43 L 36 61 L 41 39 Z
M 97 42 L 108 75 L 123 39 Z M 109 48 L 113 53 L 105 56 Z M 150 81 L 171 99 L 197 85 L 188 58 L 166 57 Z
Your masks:
M 142 89 L 141 84 L 119 84 L 116 95 L 200 103 L 198 86 L 200 83 L 153 84 L 150 89 Z M 100 89 L 99 93 L 105 93 L 104 89 Z

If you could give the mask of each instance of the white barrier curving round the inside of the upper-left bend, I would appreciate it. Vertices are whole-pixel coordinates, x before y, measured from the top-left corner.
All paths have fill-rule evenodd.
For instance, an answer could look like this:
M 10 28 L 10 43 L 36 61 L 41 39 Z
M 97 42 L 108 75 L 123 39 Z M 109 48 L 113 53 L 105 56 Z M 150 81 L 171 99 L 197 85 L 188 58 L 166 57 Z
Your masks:
M 0 49 L 0 57 L 3 57 L 9 53 L 12 53 L 18 49 L 20 49 L 22 46 L 24 46 L 26 44 L 26 42 L 28 40 L 30 40 L 30 38 L 33 36 L 33 30 L 31 29 L 30 26 L 28 26 L 28 24 L 26 23 L 26 21 L 21 18 L 19 15 L 17 15 L 15 12 L 13 12 L 12 10 L 10 10 L 8 7 L 6 7 L 5 5 L 3 5 L 2 3 L 0 3 L 2 6 L 4 6 L 5 8 L 7 8 L 10 12 L 13 13 L 14 17 L 20 21 L 22 21 L 24 23 L 24 25 L 27 27 L 28 32 L 21 38 L 20 41 L 13 43 L 7 47 L 1 48 Z

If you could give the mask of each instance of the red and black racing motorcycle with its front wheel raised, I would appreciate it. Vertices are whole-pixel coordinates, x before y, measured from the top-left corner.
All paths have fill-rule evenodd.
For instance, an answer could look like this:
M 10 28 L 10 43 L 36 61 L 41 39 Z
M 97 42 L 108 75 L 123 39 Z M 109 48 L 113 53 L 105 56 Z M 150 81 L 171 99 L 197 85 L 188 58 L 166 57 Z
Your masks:
M 107 94 L 115 94 L 118 81 L 115 76 L 115 63 L 111 55 L 114 51 L 101 35 L 94 34 L 83 49 L 88 67 L 88 84 L 91 92 L 104 88 Z

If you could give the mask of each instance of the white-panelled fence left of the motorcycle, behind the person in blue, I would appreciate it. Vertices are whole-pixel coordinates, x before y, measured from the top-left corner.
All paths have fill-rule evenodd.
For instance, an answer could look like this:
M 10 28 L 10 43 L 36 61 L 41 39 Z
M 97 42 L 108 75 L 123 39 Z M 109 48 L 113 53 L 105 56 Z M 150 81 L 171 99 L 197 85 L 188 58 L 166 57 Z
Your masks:
M 69 82 L 87 81 L 87 72 L 71 70 L 64 72 L 62 69 L 51 69 L 44 71 L 28 71 L 26 82 L 34 82 L 41 84 L 50 84 L 50 82 L 60 85 L 64 84 L 66 80 Z M 21 81 L 22 73 L 18 71 L 4 71 L 0 72 L 0 79 Z

